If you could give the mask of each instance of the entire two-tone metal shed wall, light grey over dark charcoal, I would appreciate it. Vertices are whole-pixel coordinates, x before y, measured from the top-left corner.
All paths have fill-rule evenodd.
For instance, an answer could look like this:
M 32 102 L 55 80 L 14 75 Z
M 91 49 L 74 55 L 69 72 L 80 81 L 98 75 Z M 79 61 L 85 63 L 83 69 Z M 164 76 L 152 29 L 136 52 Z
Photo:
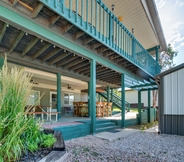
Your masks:
M 161 133 L 184 136 L 184 68 L 161 76 L 159 129 Z

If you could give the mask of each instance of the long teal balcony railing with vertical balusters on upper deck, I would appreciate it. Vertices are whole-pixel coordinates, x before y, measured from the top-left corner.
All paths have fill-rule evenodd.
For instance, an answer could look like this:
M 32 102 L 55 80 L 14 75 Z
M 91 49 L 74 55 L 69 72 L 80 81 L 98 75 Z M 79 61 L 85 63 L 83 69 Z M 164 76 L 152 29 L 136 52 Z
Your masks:
M 102 0 L 39 0 L 151 76 L 160 66 Z

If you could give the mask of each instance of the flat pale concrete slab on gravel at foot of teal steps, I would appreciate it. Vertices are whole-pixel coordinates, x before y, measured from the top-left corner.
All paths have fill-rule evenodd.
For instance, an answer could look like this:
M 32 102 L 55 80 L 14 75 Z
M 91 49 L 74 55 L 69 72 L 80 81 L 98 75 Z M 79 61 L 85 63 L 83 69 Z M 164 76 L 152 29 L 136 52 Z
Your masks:
M 115 129 L 115 131 L 116 130 L 118 132 L 115 132 L 115 133 L 100 132 L 100 133 L 95 134 L 94 136 L 98 137 L 98 138 L 106 139 L 109 141 L 113 141 L 113 140 L 116 140 L 118 138 L 122 138 L 122 137 L 125 138 L 127 136 L 132 135 L 132 134 L 136 134 L 137 132 L 140 132 L 140 130 L 136 130 L 136 129 Z

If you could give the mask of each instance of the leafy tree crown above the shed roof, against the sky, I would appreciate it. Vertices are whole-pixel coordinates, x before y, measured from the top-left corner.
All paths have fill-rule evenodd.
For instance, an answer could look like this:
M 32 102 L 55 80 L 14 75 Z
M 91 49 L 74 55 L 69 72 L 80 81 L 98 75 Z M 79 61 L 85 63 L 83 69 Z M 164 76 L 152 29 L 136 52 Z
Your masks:
M 168 44 L 167 51 L 164 51 L 160 54 L 159 64 L 161 69 L 168 69 L 175 66 L 173 63 L 173 58 L 176 57 L 177 54 L 178 51 L 174 50 L 171 44 Z

